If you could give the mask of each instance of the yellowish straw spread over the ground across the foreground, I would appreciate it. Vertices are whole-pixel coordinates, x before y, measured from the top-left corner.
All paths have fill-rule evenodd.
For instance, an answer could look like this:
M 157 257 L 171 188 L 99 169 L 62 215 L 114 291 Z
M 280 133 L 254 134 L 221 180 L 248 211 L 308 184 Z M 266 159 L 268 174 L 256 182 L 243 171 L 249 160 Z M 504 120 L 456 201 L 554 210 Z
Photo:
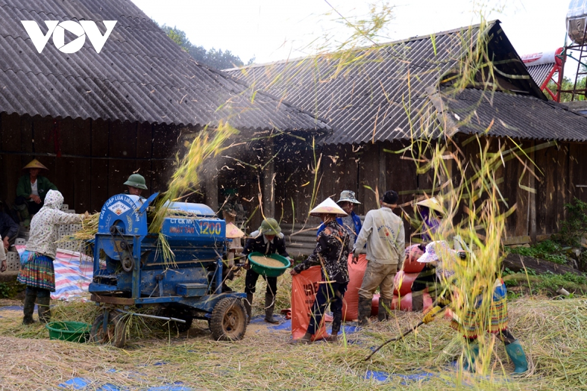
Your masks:
M 286 278 L 280 277 L 280 282 L 285 283 Z M 96 310 L 93 303 L 60 303 L 54 312 L 67 313 L 73 320 L 78 312 L 83 315 L 75 319 L 95 314 Z M 147 331 L 143 339 L 130 339 L 126 350 L 49 341 L 48 332 L 41 325 L 20 324 L 21 312 L 1 311 L 0 315 L 0 353 L 5 358 L 0 380 L 6 389 L 56 389 L 59 383 L 75 377 L 90 380 L 92 387 L 88 389 L 106 383 L 144 389 L 183 382 L 193 389 L 210 390 L 398 387 L 559 391 L 585 389 L 587 383 L 583 368 L 587 351 L 584 298 L 527 298 L 510 303 L 511 331 L 520 339 L 535 367 L 532 376 L 521 379 L 504 375 L 502 365 L 505 373 L 511 373 L 512 365 L 506 361 L 502 344 L 494 349 L 493 370 L 487 376 L 463 375 L 450 369 L 450 362 L 459 358 L 462 341 L 443 319 L 422 326 L 403 341 L 386 345 L 372 361 L 364 362 L 372 346 L 419 320 L 418 314 L 406 312 L 398 312 L 389 322 L 346 335 L 346 345 L 343 341 L 291 346 L 286 344 L 290 338 L 287 331 L 254 332 L 252 325 L 242 341 L 215 342 L 205 329 L 205 322 L 197 322 L 179 336 Z M 379 382 L 365 379 L 368 370 L 402 375 L 427 370 L 434 376 L 423 376 L 419 381 L 394 377 Z M 407 385 L 400 384 L 406 381 Z

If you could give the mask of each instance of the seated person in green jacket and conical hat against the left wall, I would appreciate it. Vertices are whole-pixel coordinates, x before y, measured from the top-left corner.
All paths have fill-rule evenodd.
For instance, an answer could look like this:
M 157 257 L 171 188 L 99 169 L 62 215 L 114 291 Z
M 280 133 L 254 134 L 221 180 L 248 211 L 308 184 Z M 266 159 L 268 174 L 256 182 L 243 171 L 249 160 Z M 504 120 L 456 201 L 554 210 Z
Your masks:
M 45 202 L 45 196 L 49 190 L 57 190 L 49 179 L 43 175 L 49 172 L 41 162 L 33 159 L 29 164 L 22 168 L 25 175 L 18 179 L 16 185 L 16 199 L 14 205 L 25 227 L 31 224 L 31 215 L 39 212 Z

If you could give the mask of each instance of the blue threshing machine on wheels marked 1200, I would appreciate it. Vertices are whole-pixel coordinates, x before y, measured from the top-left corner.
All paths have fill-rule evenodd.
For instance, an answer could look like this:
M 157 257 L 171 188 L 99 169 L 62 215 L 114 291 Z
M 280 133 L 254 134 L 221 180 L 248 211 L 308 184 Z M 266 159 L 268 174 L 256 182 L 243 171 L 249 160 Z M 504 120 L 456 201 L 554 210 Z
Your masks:
M 103 313 L 92 339 L 122 347 L 130 315 L 166 319 L 179 331 L 206 319 L 214 339 L 241 339 L 247 329 L 242 293 L 222 293 L 226 224 L 208 206 L 173 202 L 161 226 L 174 260 L 165 259 L 159 234 L 148 232 L 149 199 L 115 195 L 104 203 L 94 240 L 92 301 Z M 129 311 L 156 305 L 158 315 Z

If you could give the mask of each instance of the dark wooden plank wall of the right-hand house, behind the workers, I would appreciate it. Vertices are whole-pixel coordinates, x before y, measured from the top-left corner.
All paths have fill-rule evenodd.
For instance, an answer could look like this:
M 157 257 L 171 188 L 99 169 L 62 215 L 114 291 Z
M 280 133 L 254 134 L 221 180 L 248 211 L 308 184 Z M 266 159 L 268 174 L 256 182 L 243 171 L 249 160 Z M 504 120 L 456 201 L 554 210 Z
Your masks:
M 466 137 L 460 138 L 461 142 Z M 513 205 L 517 209 L 506 222 L 507 236 L 531 235 L 531 206 L 534 202 L 535 225 L 538 235 L 558 232 L 562 220 L 566 219 L 565 203 L 577 197 L 587 202 L 587 144 L 576 142 L 559 142 L 544 148 L 546 141 L 516 141 L 528 150 L 528 157 L 520 154 L 520 158 L 505 161 L 497 171 L 499 189 L 504 196 L 506 207 Z M 504 139 L 491 140 L 491 148 L 497 151 L 500 145 L 507 145 Z M 510 142 L 510 147 L 513 144 Z M 417 175 L 416 164 L 410 152 L 401 154 L 389 151 L 400 151 L 404 145 L 400 142 L 376 142 L 363 145 L 328 145 L 316 148 L 316 158 L 322 155 L 318 175 L 318 191 L 316 202 L 330 196 L 338 200 L 340 191 L 349 189 L 357 194 L 362 205 L 355 209 L 359 215 L 377 207 L 375 189 L 393 189 L 400 193 L 400 203 L 408 203 L 422 193 L 430 193 L 431 172 Z M 478 159 L 478 145 L 469 143 L 460 145 L 461 150 L 470 164 Z M 537 148 L 532 152 L 532 148 Z M 532 167 L 529 159 L 535 162 L 534 179 L 535 196 L 520 187 L 531 187 Z M 312 186 L 314 181 L 314 151 L 306 149 L 297 155 L 297 164 L 278 164 L 276 172 L 276 192 L 278 202 L 276 215 L 283 214 L 285 223 L 318 224 L 318 219 L 310 217 Z M 384 167 L 384 169 L 382 169 Z M 526 169 L 524 169 L 526 167 Z M 306 184 L 307 183 L 307 184 Z M 367 188 L 367 186 L 370 188 Z M 585 187 L 583 187 L 585 186 Z M 294 208 L 292 208 L 292 199 Z M 409 206 L 404 212 L 413 213 Z M 294 221 L 295 220 L 295 221 Z M 407 227 L 407 221 L 406 221 Z

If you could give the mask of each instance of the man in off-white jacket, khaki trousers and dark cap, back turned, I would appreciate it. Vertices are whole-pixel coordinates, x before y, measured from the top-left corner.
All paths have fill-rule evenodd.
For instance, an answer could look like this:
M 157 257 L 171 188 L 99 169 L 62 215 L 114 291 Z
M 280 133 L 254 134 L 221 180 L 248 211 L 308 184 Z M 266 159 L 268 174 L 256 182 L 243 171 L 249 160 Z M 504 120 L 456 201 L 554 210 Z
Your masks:
M 389 317 L 393 279 L 402 266 L 406 247 L 403 221 L 392 210 L 397 199 L 396 192 L 387 191 L 379 201 L 381 208 L 367 212 L 353 248 L 353 263 L 356 263 L 360 250 L 367 243 L 367 268 L 359 289 L 359 325 L 369 323 L 371 302 L 377 287 L 380 291 L 378 318 L 384 321 Z

